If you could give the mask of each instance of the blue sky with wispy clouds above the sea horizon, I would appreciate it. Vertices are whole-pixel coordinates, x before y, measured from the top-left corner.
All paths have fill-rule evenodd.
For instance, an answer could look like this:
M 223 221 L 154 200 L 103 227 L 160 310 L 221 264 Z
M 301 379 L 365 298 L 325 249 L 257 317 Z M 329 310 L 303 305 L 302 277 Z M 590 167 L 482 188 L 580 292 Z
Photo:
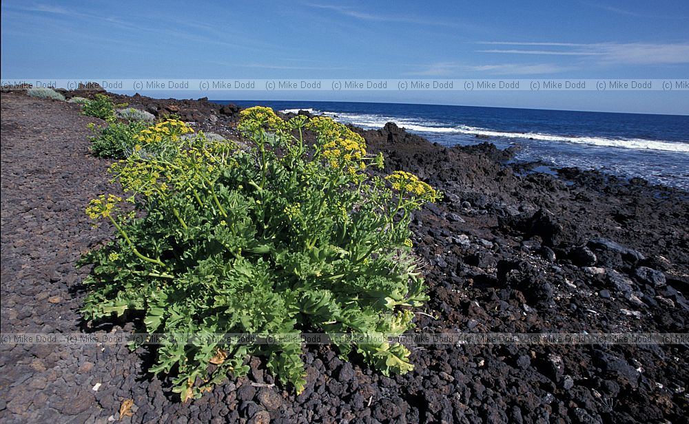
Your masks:
M 686 0 L 1 7 L 3 78 L 689 78 Z M 687 92 L 261 94 L 212 97 L 689 114 Z

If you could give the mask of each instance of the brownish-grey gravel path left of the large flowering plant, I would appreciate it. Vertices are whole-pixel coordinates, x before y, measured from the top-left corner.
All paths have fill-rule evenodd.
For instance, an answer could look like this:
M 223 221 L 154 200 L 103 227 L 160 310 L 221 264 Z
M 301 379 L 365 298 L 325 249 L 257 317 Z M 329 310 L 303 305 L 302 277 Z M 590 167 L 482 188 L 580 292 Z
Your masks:
M 107 163 L 88 155 L 86 125 L 96 120 L 78 110 L 2 96 L 3 333 L 80 332 L 81 297 L 74 288 L 85 271 L 75 273 L 74 263 L 108 231 L 92 229 L 83 215 L 83 205 L 107 187 Z M 103 412 L 91 389 L 110 372 L 96 366 L 112 364 L 107 358 L 115 353 L 86 345 L 3 344 L 0 420 L 96 421 Z

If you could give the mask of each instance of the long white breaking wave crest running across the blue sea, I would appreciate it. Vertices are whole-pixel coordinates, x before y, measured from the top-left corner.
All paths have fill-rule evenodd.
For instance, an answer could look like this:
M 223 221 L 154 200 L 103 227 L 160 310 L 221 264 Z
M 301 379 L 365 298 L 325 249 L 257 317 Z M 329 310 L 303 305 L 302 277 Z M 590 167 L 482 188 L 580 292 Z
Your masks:
M 447 124 L 429 122 L 419 118 L 402 118 L 398 116 L 382 116 L 377 114 L 353 114 L 349 112 L 324 112 L 314 109 L 308 110 L 314 115 L 330 116 L 342 123 L 356 125 L 364 129 L 380 129 L 386 123 L 393 122 L 398 127 L 418 133 L 435 134 L 466 134 L 470 136 L 500 137 L 526 140 L 542 140 L 548 142 L 569 142 L 579 145 L 599 147 L 616 147 L 619 149 L 660 150 L 689 153 L 689 144 L 683 142 L 669 142 L 664 140 L 646 140 L 644 138 L 607 138 L 597 136 L 563 136 L 559 134 L 544 134 L 537 132 L 496 131 L 468 125 L 448 126 Z M 299 109 L 286 109 L 282 112 L 298 112 Z

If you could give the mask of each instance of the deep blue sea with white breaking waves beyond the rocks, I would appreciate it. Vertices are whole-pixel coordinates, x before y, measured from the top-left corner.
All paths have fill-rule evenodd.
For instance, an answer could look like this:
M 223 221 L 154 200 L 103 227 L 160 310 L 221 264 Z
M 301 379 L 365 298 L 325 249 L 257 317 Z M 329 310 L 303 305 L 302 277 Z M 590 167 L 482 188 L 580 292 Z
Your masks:
M 486 141 L 501 149 L 518 145 L 518 161 L 599 169 L 689 190 L 689 116 L 400 103 L 214 101 L 283 112 L 305 109 L 366 129 L 393 122 L 446 146 Z

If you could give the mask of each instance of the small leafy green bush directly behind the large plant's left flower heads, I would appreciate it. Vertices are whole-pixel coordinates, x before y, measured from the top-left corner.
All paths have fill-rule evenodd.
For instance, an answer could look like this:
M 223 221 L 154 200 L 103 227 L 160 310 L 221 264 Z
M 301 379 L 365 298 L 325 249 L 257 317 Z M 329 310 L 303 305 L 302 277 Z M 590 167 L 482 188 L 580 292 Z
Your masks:
M 136 146 L 134 136 L 137 136 L 148 123 L 132 120 L 128 123 L 111 123 L 107 127 L 97 127 L 90 124 L 95 135 L 91 137 L 91 150 L 100 158 L 123 159 L 130 156 Z

